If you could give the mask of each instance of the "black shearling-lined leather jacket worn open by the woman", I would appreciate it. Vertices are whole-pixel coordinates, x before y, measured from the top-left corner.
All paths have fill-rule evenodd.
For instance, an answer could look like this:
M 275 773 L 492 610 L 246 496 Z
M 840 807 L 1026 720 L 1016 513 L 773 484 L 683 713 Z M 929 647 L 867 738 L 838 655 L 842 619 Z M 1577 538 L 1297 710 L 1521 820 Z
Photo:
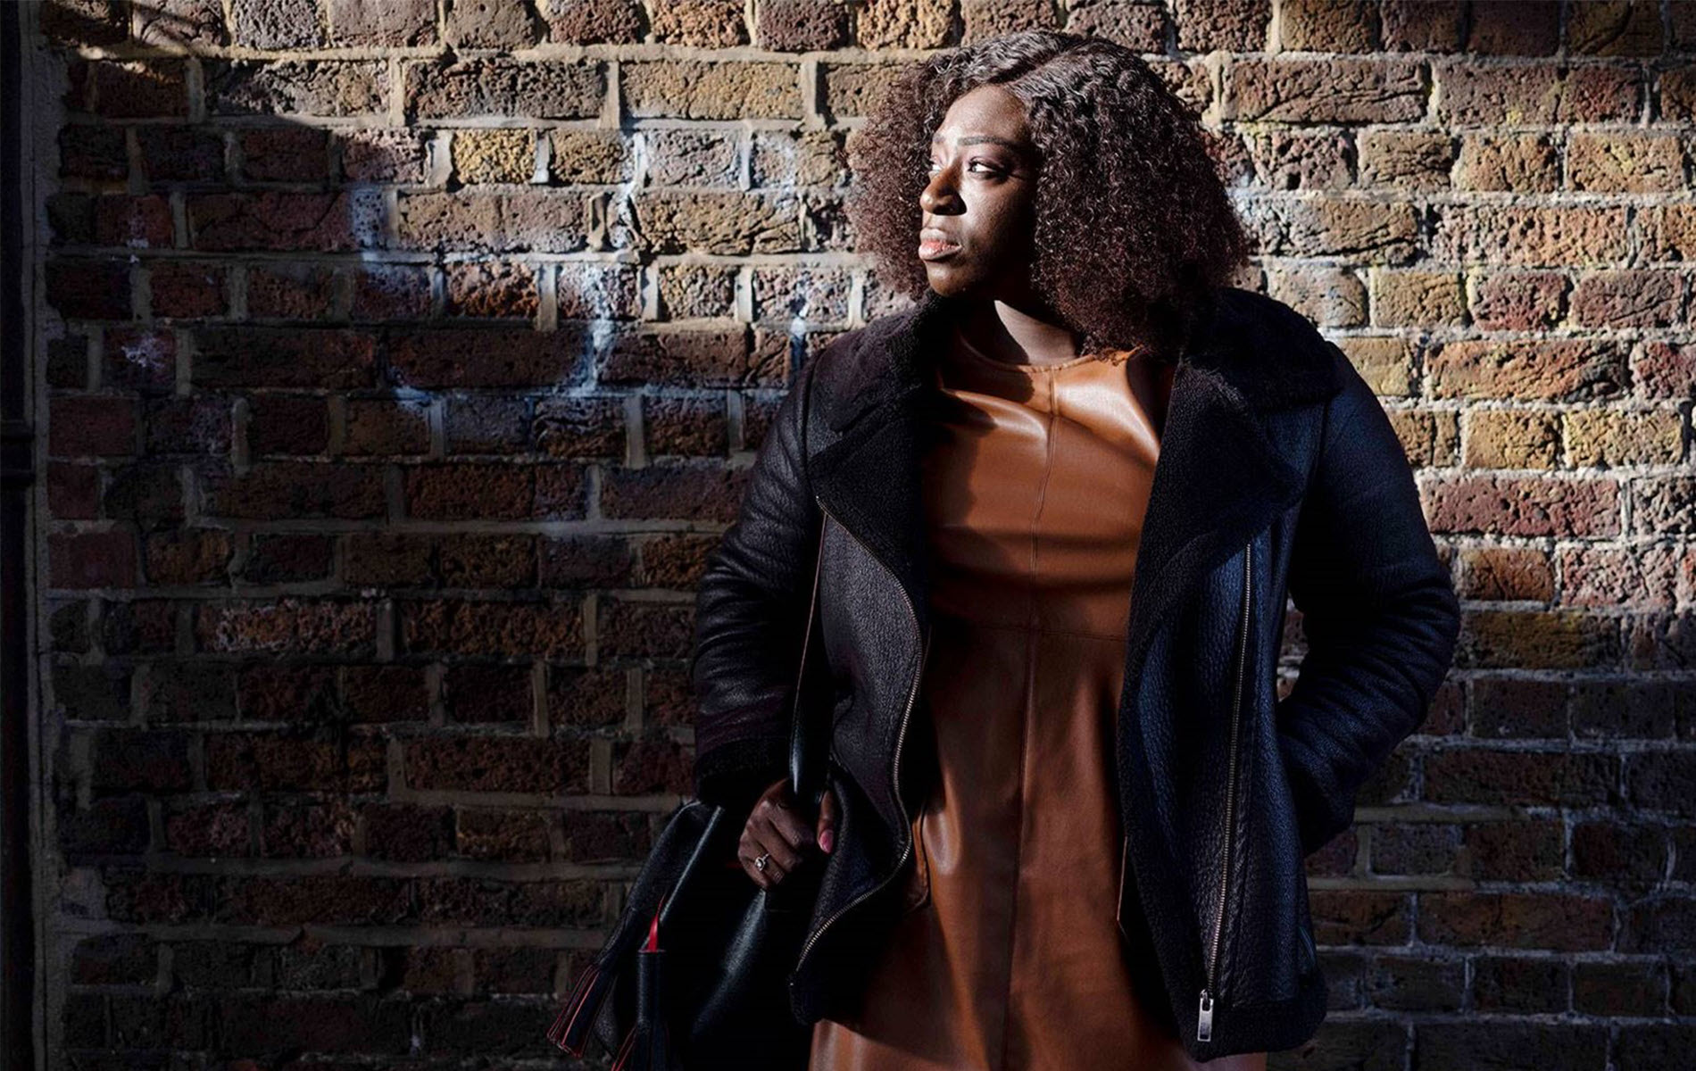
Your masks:
M 841 819 L 789 976 L 804 1024 L 855 1007 L 929 791 L 924 358 L 955 308 L 928 291 L 807 361 L 699 586 L 695 795 L 748 808 L 789 773 L 794 710 L 831 719 Z M 1308 649 L 1277 700 L 1287 598 Z M 1459 620 L 1372 390 L 1287 305 L 1221 290 L 1172 383 L 1116 730 L 1119 929 L 1194 1059 L 1318 1029 L 1304 857 L 1425 719 Z M 797 698 L 802 658 L 829 693 Z

